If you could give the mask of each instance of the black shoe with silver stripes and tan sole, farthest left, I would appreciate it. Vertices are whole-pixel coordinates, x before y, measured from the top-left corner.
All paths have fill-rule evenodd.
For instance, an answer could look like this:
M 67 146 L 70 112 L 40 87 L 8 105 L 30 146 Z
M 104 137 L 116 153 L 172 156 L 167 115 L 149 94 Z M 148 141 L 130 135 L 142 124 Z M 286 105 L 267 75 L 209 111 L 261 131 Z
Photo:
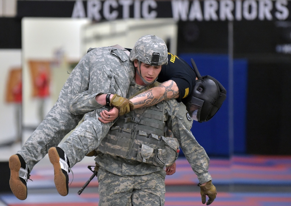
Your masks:
M 14 154 L 9 158 L 10 168 L 10 189 L 19 200 L 27 197 L 27 180 L 29 179 L 29 169 L 24 159 L 19 154 Z

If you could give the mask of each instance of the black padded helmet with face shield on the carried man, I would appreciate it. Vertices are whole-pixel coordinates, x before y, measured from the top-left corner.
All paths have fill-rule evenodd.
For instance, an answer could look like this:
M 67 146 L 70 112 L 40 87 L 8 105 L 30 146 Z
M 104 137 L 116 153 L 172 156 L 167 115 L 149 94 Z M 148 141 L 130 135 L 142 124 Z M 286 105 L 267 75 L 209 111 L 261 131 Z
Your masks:
M 191 93 L 191 100 L 186 104 L 192 119 L 207 122 L 219 110 L 226 99 L 226 89 L 211 76 L 201 76 L 196 64 L 191 59 L 194 72 L 198 77 Z

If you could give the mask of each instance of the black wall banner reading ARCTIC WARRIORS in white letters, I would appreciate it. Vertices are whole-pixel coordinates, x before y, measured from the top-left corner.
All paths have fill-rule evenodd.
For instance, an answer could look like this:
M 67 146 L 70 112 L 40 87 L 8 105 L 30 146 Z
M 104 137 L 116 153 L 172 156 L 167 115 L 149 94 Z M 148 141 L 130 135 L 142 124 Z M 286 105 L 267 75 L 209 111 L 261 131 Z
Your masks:
M 17 1 L 18 17 L 88 17 L 94 21 L 173 18 L 181 21 L 290 20 L 288 0 Z

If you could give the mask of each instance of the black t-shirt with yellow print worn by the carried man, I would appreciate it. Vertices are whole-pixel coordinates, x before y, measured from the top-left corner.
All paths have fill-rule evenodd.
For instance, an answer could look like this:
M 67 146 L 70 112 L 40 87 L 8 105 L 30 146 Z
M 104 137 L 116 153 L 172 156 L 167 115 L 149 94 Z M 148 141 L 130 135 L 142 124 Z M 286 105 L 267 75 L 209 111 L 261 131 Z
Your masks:
M 189 94 L 192 92 L 195 79 L 196 74 L 193 68 L 184 59 L 168 53 L 168 64 L 162 66 L 162 71 L 157 81 L 166 82 L 173 80 L 179 88 L 180 97 L 177 98 L 178 102 L 186 104 L 191 98 Z

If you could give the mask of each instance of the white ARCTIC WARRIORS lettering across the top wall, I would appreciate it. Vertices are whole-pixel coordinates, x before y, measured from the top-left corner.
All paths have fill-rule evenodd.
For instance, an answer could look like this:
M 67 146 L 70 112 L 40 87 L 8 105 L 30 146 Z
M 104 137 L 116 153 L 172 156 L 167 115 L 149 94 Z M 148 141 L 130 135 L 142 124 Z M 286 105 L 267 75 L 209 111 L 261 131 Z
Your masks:
M 289 17 L 288 3 L 291 2 L 287 0 L 173 0 L 167 1 L 167 6 L 171 6 L 170 8 L 166 5 L 162 6 L 164 3 L 153 0 L 90 0 L 87 1 L 86 13 L 84 4 L 76 1 L 72 17 L 89 17 L 97 21 L 103 18 L 113 20 L 129 17 L 154 19 L 163 17 L 159 16 L 159 12 L 166 10 L 172 13 L 172 18 L 182 21 L 285 20 Z

